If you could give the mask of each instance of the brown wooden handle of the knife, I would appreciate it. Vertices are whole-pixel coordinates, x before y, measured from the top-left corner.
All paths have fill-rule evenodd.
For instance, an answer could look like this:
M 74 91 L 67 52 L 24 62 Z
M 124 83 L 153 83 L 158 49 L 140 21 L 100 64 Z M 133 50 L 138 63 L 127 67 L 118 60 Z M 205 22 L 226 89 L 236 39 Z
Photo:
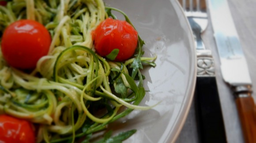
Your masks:
M 256 143 L 256 107 L 251 95 L 236 99 L 245 143 Z

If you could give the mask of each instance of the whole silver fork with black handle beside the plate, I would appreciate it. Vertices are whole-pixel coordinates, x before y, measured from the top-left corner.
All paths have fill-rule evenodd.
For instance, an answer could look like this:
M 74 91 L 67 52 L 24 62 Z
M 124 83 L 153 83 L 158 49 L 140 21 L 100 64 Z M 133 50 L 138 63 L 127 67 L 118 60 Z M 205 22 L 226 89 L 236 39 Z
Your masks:
M 179 0 L 191 26 L 197 54 L 195 92 L 196 119 L 202 143 L 226 143 L 226 132 L 215 78 L 211 50 L 201 35 L 208 24 L 206 0 Z

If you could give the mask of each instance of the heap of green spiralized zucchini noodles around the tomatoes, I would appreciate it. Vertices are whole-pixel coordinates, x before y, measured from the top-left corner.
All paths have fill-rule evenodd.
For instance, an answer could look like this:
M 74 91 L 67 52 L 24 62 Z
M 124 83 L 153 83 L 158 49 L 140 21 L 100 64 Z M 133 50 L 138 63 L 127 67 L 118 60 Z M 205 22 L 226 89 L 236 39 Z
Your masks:
M 40 22 L 52 36 L 49 54 L 31 73 L 8 66 L 0 53 L 0 114 L 33 122 L 37 142 L 76 142 L 134 109 L 150 109 L 138 106 L 145 90 L 142 66 L 133 65 L 155 66 L 156 57 L 141 57 L 143 41 L 140 56 L 125 62 L 94 52 L 91 31 L 105 18 L 116 18 L 111 10 L 124 14 L 102 0 L 12 0 L 0 6 L 0 37 L 20 19 Z

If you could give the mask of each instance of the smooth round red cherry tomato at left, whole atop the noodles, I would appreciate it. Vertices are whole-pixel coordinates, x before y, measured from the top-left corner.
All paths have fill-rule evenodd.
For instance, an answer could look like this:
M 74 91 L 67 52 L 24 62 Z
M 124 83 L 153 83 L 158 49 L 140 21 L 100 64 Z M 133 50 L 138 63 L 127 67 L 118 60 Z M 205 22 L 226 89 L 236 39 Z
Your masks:
M 47 29 L 33 20 L 19 20 L 4 30 L 1 50 L 10 66 L 32 70 L 38 59 L 47 55 L 51 36 Z

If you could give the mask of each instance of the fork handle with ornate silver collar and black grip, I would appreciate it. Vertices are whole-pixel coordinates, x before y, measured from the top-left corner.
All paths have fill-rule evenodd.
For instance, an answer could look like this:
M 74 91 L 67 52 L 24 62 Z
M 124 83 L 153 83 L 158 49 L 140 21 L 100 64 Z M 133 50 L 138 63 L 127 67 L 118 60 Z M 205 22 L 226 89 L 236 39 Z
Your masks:
M 196 118 L 202 143 L 226 143 L 226 132 L 210 50 L 197 50 Z

